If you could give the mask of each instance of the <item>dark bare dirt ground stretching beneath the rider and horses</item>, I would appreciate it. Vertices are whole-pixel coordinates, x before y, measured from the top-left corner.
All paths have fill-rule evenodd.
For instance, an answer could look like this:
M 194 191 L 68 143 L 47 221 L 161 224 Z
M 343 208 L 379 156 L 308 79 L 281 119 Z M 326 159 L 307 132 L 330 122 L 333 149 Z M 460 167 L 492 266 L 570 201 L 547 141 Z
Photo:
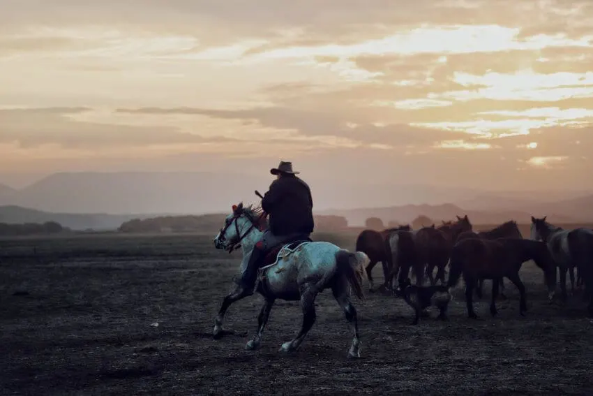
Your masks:
M 317 239 L 328 239 L 326 236 Z M 333 238 L 352 249 L 354 236 Z M 331 239 L 329 238 L 329 239 Z M 369 294 L 359 311 L 361 359 L 331 293 L 294 355 L 278 352 L 299 330 L 296 302 L 278 302 L 262 349 L 246 351 L 262 298 L 233 305 L 215 341 L 213 319 L 240 252 L 212 236 L 79 236 L 0 241 L 2 395 L 585 395 L 593 394 L 593 324 L 571 298 L 550 305 L 541 272 L 523 265 L 518 293 L 490 317 L 467 318 L 463 284 L 450 320 L 410 325 L 401 300 Z M 375 267 L 381 279 L 380 265 Z M 365 290 L 368 286 L 365 286 Z M 158 325 L 155 325 L 158 323 Z

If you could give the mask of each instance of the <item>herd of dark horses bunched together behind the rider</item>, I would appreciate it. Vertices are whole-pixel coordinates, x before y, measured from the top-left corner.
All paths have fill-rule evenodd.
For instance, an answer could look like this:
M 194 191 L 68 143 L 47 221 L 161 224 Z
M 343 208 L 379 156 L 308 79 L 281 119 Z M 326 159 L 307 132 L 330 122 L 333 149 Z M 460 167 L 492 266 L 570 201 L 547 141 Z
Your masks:
M 473 308 L 474 291 L 482 297 L 485 279 L 491 279 L 493 289 L 490 312 L 495 315 L 495 300 L 504 295 L 504 277 L 518 288 L 520 314 L 527 310 L 525 286 L 519 270 L 525 261 L 532 260 L 543 270 L 548 286 L 548 298 L 553 299 L 556 288 L 557 268 L 560 270 L 562 300 L 566 301 L 566 272 L 570 273 L 572 291 L 575 291 L 575 270 L 578 271 L 577 286 L 585 283 L 584 298 L 589 298 L 589 315 L 593 317 L 593 231 L 588 228 L 564 230 L 546 221 L 546 217 L 532 217 L 530 239 L 523 239 L 516 221 L 506 221 L 492 230 L 474 232 L 472 223 L 465 217 L 455 222 L 443 221 L 442 225 L 427 226 L 412 230 L 409 225 L 382 231 L 363 230 L 356 239 L 356 251 L 363 251 L 369 258 L 366 274 L 370 291 L 375 291 L 373 267 L 382 263 L 383 289 L 393 290 L 393 281 L 398 277 L 400 288 L 412 272 L 416 286 L 422 286 L 424 277 L 431 285 L 440 281 L 447 288 L 458 284 L 460 276 L 465 280 L 467 314 L 477 318 Z M 449 265 L 449 279 L 445 270 Z M 436 276 L 434 271 L 437 270 Z

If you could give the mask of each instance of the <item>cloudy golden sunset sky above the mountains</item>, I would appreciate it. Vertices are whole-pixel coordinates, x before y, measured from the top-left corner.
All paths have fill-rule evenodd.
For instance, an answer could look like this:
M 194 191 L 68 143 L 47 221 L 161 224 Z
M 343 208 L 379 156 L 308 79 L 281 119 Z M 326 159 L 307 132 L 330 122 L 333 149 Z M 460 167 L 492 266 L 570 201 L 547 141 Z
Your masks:
M 592 1 L 0 0 L 0 173 L 583 189 L 591 64 Z

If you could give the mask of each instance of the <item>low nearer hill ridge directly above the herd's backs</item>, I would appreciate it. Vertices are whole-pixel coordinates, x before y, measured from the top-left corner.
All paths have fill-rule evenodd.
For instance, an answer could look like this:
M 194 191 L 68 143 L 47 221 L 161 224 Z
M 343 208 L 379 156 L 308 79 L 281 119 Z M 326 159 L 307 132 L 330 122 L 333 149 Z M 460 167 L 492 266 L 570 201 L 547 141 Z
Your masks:
M 379 217 L 387 223 L 388 221 L 398 221 L 399 223 L 411 223 L 412 220 L 420 215 L 429 217 L 430 219 L 446 220 L 455 219 L 456 216 L 463 216 L 467 214 L 470 221 L 474 224 L 497 224 L 508 220 L 516 220 L 519 223 L 527 223 L 530 221 L 530 212 L 522 212 L 518 210 L 499 210 L 499 211 L 479 211 L 479 210 L 464 210 L 461 207 L 453 204 L 444 205 L 403 205 L 391 207 L 373 207 L 360 208 L 352 210 L 328 210 L 322 212 L 323 214 L 333 214 L 343 216 L 348 219 L 350 226 L 362 226 L 369 217 Z M 548 214 L 550 221 L 557 221 L 559 223 L 571 223 L 576 221 L 571 217 L 566 217 L 562 214 L 557 215 L 553 212 Z

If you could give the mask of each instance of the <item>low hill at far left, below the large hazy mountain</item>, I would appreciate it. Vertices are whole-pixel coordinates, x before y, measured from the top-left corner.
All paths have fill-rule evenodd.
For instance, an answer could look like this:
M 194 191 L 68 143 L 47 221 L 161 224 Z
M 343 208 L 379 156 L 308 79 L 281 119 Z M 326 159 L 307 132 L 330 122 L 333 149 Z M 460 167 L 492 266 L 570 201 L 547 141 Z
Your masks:
M 115 230 L 121 223 L 135 218 L 146 219 L 147 215 L 138 214 L 72 214 L 50 213 L 27 209 L 20 206 L 0 206 L 0 223 L 45 223 L 55 221 L 72 230 Z

